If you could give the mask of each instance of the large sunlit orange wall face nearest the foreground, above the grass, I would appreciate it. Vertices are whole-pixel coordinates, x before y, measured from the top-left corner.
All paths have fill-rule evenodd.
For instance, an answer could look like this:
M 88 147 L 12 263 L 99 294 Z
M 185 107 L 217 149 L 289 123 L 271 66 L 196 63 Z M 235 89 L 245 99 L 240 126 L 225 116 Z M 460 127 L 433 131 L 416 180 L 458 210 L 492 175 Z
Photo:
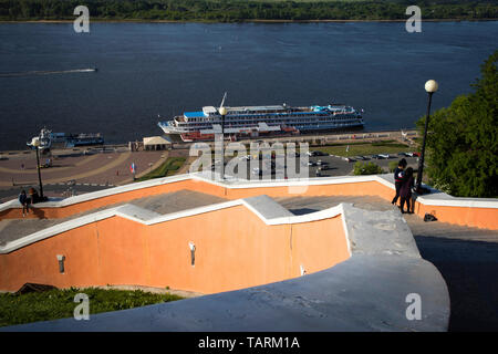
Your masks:
M 188 242 L 196 244 L 190 266 Z M 64 254 L 59 273 L 56 254 Z M 106 284 L 215 293 L 330 268 L 350 257 L 341 216 L 267 226 L 243 206 L 153 226 L 113 217 L 0 254 L 0 290 L 27 282 Z

